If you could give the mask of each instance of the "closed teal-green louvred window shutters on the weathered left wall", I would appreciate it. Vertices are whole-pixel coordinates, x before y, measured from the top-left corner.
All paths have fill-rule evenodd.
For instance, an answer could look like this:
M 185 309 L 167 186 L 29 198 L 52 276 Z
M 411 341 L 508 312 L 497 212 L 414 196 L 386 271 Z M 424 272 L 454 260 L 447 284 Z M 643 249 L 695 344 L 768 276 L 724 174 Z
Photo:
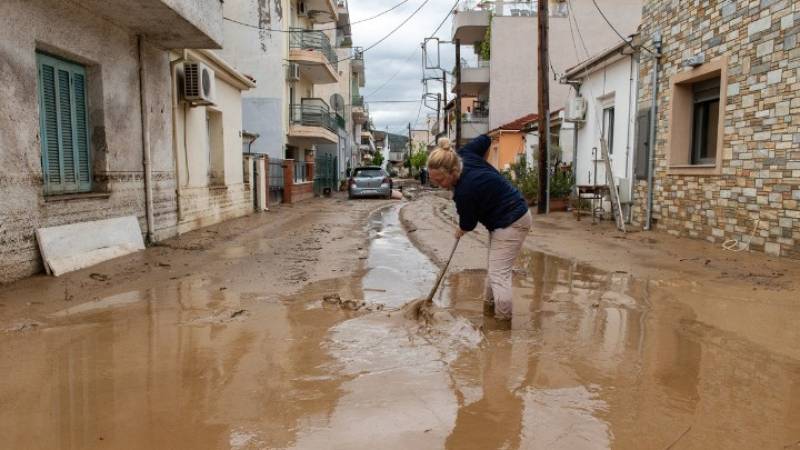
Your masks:
M 86 70 L 37 53 L 42 169 L 49 194 L 91 190 Z

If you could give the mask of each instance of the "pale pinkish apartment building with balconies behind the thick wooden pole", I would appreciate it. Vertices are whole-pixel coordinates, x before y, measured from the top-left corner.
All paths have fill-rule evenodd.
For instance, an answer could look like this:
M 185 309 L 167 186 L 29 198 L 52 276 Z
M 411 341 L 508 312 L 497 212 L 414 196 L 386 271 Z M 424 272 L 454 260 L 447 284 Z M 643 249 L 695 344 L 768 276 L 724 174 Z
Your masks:
M 548 1 L 554 74 L 619 42 L 591 0 Z M 642 0 L 596 1 L 623 35 L 636 31 Z M 462 96 L 476 98 L 478 112 L 464 125 L 467 132 L 496 129 L 537 113 L 536 10 L 535 1 L 464 1 L 459 5 L 452 38 L 460 42 L 462 55 L 469 47 L 475 53 L 472 60 L 464 58 L 459 86 Z M 565 106 L 569 89 L 551 81 L 552 110 Z

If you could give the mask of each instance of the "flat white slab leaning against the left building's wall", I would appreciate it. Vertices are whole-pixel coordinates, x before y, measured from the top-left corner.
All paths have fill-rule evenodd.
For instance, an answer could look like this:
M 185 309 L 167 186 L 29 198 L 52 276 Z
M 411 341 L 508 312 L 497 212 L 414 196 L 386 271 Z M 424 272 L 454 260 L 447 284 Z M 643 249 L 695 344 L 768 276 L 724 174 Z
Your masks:
M 45 270 L 55 276 L 144 250 L 136 216 L 39 228 L 36 240 Z

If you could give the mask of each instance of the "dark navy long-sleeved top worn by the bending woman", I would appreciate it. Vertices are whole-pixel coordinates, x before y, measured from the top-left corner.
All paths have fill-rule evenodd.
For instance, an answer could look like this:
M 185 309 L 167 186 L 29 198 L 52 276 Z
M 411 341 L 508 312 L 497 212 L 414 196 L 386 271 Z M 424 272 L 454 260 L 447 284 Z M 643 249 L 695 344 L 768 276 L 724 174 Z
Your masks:
M 478 222 L 489 231 L 506 228 L 528 212 L 522 194 L 484 159 L 491 143 L 488 136 L 478 136 L 458 151 L 464 168 L 453 199 L 464 231 Z

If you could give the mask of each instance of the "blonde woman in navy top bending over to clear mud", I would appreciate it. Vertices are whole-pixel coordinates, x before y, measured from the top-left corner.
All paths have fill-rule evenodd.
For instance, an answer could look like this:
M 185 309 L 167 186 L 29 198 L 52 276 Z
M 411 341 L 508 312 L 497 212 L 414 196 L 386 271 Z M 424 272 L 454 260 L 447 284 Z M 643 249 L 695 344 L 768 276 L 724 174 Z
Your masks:
M 453 190 L 458 211 L 456 238 L 478 223 L 489 230 L 488 280 L 485 306 L 497 319 L 512 315 L 511 269 L 531 228 L 531 214 L 522 194 L 484 159 L 491 145 L 479 136 L 456 153 L 447 138 L 428 158 L 430 180 Z

